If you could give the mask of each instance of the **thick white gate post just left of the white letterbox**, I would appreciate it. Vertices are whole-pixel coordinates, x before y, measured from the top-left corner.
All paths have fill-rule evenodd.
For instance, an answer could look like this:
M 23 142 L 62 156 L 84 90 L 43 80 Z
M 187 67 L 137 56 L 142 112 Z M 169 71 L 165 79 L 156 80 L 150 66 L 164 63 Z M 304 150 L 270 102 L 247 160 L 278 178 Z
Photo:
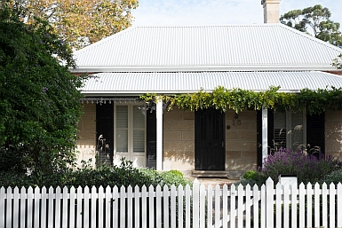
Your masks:
M 274 181 L 266 180 L 266 227 L 274 227 Z

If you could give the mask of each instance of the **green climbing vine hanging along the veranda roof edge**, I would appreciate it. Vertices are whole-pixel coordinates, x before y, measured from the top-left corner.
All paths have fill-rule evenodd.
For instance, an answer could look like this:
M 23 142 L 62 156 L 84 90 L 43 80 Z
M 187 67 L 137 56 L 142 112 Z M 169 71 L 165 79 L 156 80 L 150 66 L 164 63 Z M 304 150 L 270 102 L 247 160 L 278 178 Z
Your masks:
M 236 113 L 243 110 L 269 109 L 298 112 L 306 108 L 307 114 L 322 114 L 326 110 L 342 110 L 342 89 L 331 87 L 318 90 L 300 90 L 299 93 L 279 92 L 280 86 L 271 86 L 265 91 L 243 89 L 227 90 L 219 86 L 212 92 L 199 90 L 192 94 L 175 94 L 162 96 L 145 94 L 140 98 L 147 103 L 162 98 L 165 103 L 191 111 L 214 107 L 226 112 L 233 109 Z

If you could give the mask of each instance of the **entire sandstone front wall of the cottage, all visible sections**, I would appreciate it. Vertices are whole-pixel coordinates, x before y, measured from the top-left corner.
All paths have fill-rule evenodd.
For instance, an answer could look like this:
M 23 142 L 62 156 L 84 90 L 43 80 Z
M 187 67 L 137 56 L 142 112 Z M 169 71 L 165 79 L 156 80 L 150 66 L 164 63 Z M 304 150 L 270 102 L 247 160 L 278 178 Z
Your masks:
M 257 115 L 244 111 L 235 119 L 235 112 L 226 112 L 226 170 L 230 176 L 257 169 Z M 342 112 L 325 115 L 325 152 L 333 157 L 342 154 Z M 240 123 L 240 124 L 239 124 Z M 95 161 L 96 105 L 84 104 L 79 122 L 77 161 Z M 341 158 L 340 158 L 341 159 Z M 163 169 L 179 169 L 190 176 L 195 168 L 195 113 L 173 107 L 163 114 Z

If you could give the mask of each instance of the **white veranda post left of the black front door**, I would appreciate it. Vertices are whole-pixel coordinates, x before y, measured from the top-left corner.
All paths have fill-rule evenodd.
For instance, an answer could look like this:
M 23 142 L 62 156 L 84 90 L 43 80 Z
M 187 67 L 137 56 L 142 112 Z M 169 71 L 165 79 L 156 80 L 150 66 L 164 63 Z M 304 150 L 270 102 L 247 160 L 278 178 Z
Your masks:
M 156 100 L 156 170 L 163 170 L 163 99 Z

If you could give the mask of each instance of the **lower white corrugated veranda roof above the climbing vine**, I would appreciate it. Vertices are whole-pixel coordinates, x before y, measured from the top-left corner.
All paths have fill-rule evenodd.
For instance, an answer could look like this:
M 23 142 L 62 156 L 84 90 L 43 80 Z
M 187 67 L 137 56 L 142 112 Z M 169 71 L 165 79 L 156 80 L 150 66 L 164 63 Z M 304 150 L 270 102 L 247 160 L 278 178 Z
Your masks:
M 303 72 L 130 72 L 99 73 L 85 83 L 86 96 L 141 95 L 145 93 L 191 93 L 201 89 L 268 90 L 281 86 L 280 91 L 301 89 L 342 88 L 342 76 L 317 71 Z

